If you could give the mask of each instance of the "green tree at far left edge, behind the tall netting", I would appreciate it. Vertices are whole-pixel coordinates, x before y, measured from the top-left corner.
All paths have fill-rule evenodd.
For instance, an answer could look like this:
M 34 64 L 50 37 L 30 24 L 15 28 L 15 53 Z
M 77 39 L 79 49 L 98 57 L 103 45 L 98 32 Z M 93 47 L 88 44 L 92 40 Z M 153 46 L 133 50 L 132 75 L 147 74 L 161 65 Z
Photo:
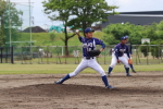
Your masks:
M 0 36 L 0 46 L 4 45 L 5 40 L 9 39 L 9 34 L 11 33 L 12 40 L 18 38 L 17 26 L 21 26 L 23 22 L 18 15 L 22 15 L 22 11 L 17 11 L 14 3 L 0 0 L 0 4 L 3 3 L 3 7 L 0 10 L 1 17 L 1 36 Z M 5 38 L 5 39 L 4 39 Z

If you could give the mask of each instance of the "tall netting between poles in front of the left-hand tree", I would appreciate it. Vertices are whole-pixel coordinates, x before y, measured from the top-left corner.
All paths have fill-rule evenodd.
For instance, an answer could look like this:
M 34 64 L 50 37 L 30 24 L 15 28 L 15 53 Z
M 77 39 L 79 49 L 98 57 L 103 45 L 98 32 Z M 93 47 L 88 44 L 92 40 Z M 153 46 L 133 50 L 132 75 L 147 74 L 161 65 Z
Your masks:
M 32 46 L 33 3 L 29 0 L 7 0 L 4 14 L 5 46 Z

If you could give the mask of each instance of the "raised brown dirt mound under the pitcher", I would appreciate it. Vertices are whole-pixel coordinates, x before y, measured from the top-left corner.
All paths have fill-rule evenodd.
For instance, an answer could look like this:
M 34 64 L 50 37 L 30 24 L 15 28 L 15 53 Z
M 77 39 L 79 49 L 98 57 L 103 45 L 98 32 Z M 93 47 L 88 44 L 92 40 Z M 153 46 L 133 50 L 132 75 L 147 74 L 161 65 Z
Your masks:
M 113 90 L 113 89 L 112 89 Z M 117 89 L 114 89 L 117 90 Z M 38 84 L 7 90 L 10 94 L 32 96 L 90 96 L 110 94 L 111 89 L 100 86 L 74 85 L 74 84 Z

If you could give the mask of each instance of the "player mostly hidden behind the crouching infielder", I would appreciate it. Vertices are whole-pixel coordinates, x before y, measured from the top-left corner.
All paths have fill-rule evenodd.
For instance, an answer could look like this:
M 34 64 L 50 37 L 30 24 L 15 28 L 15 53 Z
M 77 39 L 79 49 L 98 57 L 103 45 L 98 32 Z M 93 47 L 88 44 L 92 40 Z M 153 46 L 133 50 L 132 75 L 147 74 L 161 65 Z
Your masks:
M 126 43 L 126 46 L 128 46 L 129 56 L 130 56 L 130 59 L 131 59 L 131 57 L 133 57 L 131 44 L 128 41 L 128 40 L 129 40 L 129 37 L 128 37 L 127 35 L 125 36 L 125 38 L 126 38 L 126 41 L 127 41 L 127 43 Z M 128 59 L 126 52 L 125 52 L 125 56 L 126 56 L 126 58 Z M 129 64 L 129 65 L 130 65 L 131 71 L 133 71 L 134 73 L 136 73 L 136 71 L 135 71 L 135 69 L 134 69 L 134 66 L 133 66 L 133 64 Z

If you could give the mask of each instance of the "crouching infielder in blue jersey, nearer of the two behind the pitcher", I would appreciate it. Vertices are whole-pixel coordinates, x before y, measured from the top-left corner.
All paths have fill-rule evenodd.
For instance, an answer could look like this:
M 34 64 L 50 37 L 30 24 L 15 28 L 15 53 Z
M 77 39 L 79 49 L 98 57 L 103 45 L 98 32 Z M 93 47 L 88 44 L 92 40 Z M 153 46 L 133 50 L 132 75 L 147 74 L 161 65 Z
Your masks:
M 125 65 L 126 76 L 131 76 L 129 74 L 129 64 L 128 64 L 128 60 L 130 59 L 130 56 L 129 56 L 128 47 L 125 44 L 126 44 L 126 38 L 121 37 L 121 44 L 117 44 L 114 48 L 114 56 L 112 57 L 112 61 L 109 66 L 108 75 L 111 75 L 111 72 L 116 63 L 122 62 Z M 128 59 L 126 59 L 126 57 L 124 56 L 125 52 Z

